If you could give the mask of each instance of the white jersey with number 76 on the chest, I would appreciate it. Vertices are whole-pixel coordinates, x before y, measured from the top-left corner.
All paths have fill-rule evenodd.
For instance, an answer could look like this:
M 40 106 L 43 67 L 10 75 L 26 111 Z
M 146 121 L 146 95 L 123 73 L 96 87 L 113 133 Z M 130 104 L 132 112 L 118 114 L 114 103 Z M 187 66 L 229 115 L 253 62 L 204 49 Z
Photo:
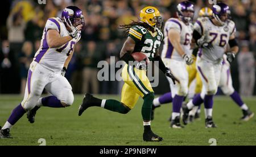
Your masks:
M 236 32 L 234 22 L 228 20 L 224 26 L 216 26 L 212 19 L 204 17 L 197 19 L 194 29 L 202 35 L 205 42 L 213 45 L 213 49 L 200 49 L 198 56 L 212 63 L 220 63 L 230 36 Z

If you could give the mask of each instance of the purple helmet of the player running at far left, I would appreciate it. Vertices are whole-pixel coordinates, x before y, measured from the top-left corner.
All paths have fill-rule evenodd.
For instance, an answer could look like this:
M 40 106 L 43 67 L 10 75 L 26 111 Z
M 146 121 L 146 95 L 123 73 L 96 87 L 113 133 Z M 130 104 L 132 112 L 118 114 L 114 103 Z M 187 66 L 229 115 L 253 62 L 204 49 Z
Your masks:
M 61 19 L 63 22 L 67 22 L 69 26 L 79 26 L 82 24 L 82 30 L 85 27 L 84 15 L 82 15 L 82 10 L 76 6 L 68 6 L 66 7 L 61 14 Z

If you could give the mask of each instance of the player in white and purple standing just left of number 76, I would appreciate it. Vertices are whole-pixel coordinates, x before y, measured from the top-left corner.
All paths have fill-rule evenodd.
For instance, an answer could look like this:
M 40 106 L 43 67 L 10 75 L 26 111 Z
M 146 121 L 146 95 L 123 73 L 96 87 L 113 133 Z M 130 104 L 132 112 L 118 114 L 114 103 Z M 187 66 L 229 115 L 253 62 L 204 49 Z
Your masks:
M 164 26 L 164 47 L 162 59 L 166 67 L 172 69 L 174 76 L 179 82 L 174 85 L 170 82 L 172 91 L 172 121 L 171 127 L 181 128 L 180 109 L 184 97 L 188 93 L 188 72 L 186 64 L 191 65 L 191 39 L 192 39 L 192 18 L 194 14 L 193 4 L 188 1 L 181 2 L 177 5 L 178 19 L 170 18 Z

